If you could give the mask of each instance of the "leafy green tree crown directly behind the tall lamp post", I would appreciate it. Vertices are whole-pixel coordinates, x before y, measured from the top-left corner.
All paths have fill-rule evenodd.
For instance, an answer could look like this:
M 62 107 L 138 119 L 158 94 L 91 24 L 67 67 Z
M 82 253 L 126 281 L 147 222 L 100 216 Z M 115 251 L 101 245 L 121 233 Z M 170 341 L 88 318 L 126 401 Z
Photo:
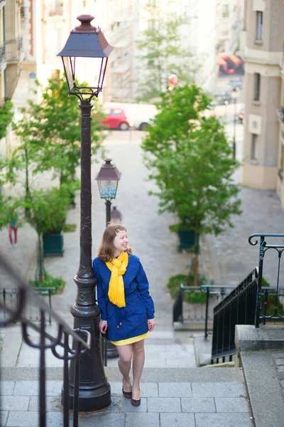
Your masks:
M 81 113 L 78 99 L 68 97 L 65 78 L 59 71 L 48 80 L 42 89 L 40 104 L 29 101 L 21 110 L 21 117 L 13 123 L 22 145 L 17 150 L 18 158 L 28 157 L 33 162 L 33 174 L 52 170 L 59 177 L 60 184 L 74 181 L 76 168 L 80 164 Z M 92 154 L 96 154 L 102 144 L 103 134 L 100 124 L 101 109 L 94 98 L 91 141 Z M 15 153 L 16 154 L 16 153 Z

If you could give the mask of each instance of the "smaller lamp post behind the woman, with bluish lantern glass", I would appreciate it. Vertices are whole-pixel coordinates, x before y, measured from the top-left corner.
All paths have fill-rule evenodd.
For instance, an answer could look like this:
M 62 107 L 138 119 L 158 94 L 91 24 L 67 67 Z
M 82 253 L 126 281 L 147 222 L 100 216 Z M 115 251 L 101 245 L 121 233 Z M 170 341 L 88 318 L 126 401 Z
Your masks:
M 111 159 L 105 159 L 104 164 L 97 173 L 96 180 L 99 186 L 99 194 L 101 199 L 104 199 L 106 205 L 106 226 L 111 221 L 111 199 L 116 198 L 116 191 L 121 179 L 121 172 L 116 168 L 115 164 L 111 164 Z M 119 357 L 116 346 L 107 342 L 107 357 Z

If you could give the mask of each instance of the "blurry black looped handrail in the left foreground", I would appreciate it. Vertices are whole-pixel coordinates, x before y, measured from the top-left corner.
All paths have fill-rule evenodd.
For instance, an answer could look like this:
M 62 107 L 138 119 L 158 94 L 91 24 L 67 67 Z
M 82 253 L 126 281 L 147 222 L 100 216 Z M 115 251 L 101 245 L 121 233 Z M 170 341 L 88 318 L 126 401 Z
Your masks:
M 45 394 L 45 350 L 51 349 L 54 356 L 63 361 L 63 389 L 62 389 L 62 406 L 63 406 L 63 426 L 69 427 L 69 407 L 70 407 L 70 385 L 74 385 L 74 398 L 72 401 L 73 408 L 73 427 L 78 426 L 79 416 L 79 381 L 80 381 L 80 356 L 85 351 L 89 351 L 91 343 L 91 334 L 87 330 L 72 330 L 43 300 L 32 288 L 28 287 L 20 276 L 8 265 L 0 255 L 0 268 L 9 279 L 16 284 L 18 288 L 18 305 L 14 308 L 5 306 L 0 302 L 0 326 L 11 325 L 13 322 L 21 322 L 23 339 L 31 347 L 39 349 L 40 367 L 39 367 L 39 421 L 38 426 L 46 426 L 46 394 Z M 27 320 L 24 317 L 24 310 L 27 300 L 33 300 L 33 303 L 40 309 L 40 325 Z M 45 330 L 46 315 L 53 317 L 58 324 L 58 333 L 56 337 L 51 336 Z M 28 334 L 28 328 L 32 328 L 40 335 L 39 342 L 33 342 Z M 72 349 L 69 345 L 69 339 L 72 337 Z M 63 352 L 60 352 L 60 348 Z M 75 359 L 74 376 L 71 376 L 68 362 Z

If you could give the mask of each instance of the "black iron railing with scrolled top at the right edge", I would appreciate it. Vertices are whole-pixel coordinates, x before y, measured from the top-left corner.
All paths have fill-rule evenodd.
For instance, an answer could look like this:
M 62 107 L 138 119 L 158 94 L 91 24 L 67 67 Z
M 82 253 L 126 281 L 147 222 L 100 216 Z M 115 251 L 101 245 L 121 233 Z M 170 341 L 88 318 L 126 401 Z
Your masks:
M 260 237 L 260 243 L 259 243 L 259 258 L 258 258 L 258 291 L 256 295 L 256 310 L 255 310 L 255 321 L 254 325 L 256 327 L 259 327 L 261 322 L 265 322 L 265 320 L 284 320 L 284 310 L 283 305 L 281 303 L 281 297 L 282 297 L 282 289 L 279 288 L 279 282 L 283 283 L 283 277 L 280 276 L 280 265 L 282 260 L 282 254 L 284 251 L 284 234 L 277 234 L 277 233 L 266 233 L 266 234 L 252 234 L 249 236 L 249 243 L 252 246 L 256 246 L 258 241 L 256 240 L 256 237 Z M 268 243 L 267 241 L 271 241 L 271 243 Z M 261 297 L 263 295 L 263 263 L 264 263 L 264 256 L 266 253 L 270 250 L 276 251 L 275 255 L 277 255 L 277 274 L 275 277 L 275 292 L 273 296 L 273 312 L 271 314 L 267 314 L 267 312 L 264 312 L 264 308 L 267 305 L 263 305 L 263 309 L 261 307 Z M 270 251 L 271 252 L 271 251 Z M 273 262 L 273 260 L 271 260 Z M 269 288 L 271 289 L 271 288 Z

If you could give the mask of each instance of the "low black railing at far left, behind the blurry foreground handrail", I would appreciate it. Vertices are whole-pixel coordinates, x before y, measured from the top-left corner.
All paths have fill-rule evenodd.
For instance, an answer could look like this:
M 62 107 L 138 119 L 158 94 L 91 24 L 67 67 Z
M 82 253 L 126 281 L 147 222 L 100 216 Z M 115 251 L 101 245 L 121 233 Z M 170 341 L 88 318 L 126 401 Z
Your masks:
M 45 297 L 48 300 L 48 304 L 51 307 L 51 295 L 55 292 L 55 288 L 31 288 L 38 295 Z M 4 307 L 8 307 L 12 311 L 16 311 L 19 303 L 19 290 L 18 288 L 0 288 L 0 304 Z M 31 322 L 40 322 L 40 308 L 33 304 L 33 299 L 27 296 L 24 315 L 25 319 Z M 4 318 L 6 312 L 3 313 Z M 45 318 L 46 322 L 51 325 L 51 315 L 48 313 Z

